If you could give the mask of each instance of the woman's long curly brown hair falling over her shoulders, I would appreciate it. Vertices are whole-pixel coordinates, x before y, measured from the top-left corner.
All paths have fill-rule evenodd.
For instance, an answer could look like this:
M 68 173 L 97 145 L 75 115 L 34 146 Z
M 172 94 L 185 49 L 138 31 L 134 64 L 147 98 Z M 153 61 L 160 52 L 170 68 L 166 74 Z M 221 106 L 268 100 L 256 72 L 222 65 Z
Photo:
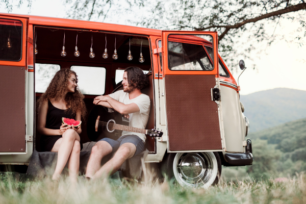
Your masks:
M 78 75 L 72 70 L 69 69 L 61 69 L 54 75 L 51 80 L 47 90 L 40 96 L 37 101 L 38 107 L 42 104 L 43 101 L 48 101 L 50 98 L 54 98 L 56 101 L 59 101 L 61 97 L 65 94 L 67 90 L 68 80 L 70 75 L 74 74 L 76 81 L 78 83 Z M 81 113 L 83 119 L 85 119 L 86 115 L 86 106 L 84 103 L 84 95 L 79 90 L 79 86 L 74 88 L 74 92 L 68 92 L 65 97 L 66 107 L 68 112 L 71 113 Z

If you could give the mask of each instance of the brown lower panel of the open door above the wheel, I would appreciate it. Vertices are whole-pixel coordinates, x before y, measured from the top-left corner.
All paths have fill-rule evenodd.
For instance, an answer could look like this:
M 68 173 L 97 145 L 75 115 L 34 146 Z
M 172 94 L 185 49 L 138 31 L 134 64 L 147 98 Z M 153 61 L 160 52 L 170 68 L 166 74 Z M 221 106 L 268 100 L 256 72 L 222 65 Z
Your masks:
M 169 150 L 222 149 L 215 75 L 166 75 Z

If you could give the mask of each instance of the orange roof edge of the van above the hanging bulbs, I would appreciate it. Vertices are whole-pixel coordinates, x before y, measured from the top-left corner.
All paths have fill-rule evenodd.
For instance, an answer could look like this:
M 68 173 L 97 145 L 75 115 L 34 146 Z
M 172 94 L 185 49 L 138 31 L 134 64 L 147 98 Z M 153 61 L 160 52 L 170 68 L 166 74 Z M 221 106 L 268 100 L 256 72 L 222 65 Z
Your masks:
M 32 16 L 32 15 L 22 15 L 22 14 L 10 14 L 10 13 L 0 13 L 2 16 L 10 17 L 23 17 L 29 18 L 29 23 L 33 25 L 42 25 L 49 27 L 63 27 L 64 28 L 77 28 L 85 30 L 99 30 L 99 31 L 110 31 L 118 33 L 131 33 L 140 35 L 156 35 L 161 36 L 162 31 L 156 29 L 147 29 L 141 27 L 134 27 L 130 25 L 120 25 L 104 22 L 94 22 L 86 20 L 74 20 L 67 18 L 54 18 L 54 17 L 43 17 L 43 16 Z

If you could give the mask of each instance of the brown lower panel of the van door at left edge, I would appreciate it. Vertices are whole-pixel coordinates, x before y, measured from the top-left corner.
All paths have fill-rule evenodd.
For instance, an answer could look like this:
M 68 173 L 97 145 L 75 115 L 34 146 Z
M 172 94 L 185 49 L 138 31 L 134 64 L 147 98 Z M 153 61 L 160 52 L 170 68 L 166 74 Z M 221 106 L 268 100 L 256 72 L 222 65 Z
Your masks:
M 25 151 L 25 69 L 0 65 L 0 152 Z

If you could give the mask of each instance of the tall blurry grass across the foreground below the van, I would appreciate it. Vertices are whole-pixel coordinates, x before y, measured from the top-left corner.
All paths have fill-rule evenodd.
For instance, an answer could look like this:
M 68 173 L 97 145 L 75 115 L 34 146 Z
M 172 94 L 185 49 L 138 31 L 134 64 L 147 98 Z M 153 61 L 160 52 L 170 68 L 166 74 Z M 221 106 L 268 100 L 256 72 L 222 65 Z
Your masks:
M 16 179 L 0 175 L 0 203 L 306 203 L 306 176 L 297 174 L 286 182 L 221 180 L 209 189 L 183 188 L 171 182 L 123 182 L 116 179 L 87 181 L 76 185 L 63 177 L 59 183 L 44 179 Z

